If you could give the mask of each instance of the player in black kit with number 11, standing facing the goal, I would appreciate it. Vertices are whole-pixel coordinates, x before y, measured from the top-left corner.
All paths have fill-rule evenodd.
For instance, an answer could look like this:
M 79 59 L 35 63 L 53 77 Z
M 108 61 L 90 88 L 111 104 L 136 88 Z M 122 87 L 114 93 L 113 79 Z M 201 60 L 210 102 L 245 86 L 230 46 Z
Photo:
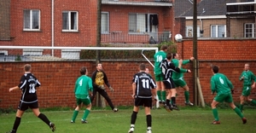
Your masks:
M 140 64 L 140 72 L 137 72 L 132 79 L 132 97 L 135 99 L 133 112 L 131 114 L 131 128 L 128 133 L 132 133 L 135 128 L 135 122 L 137 119 L 137 113 L 139 112 L 139 106 L 145 107 L 147 133 L 151 133 L 152 117 L 150 108 L 152 107 L 152 92 L 151 89 L 156 88 L 154 79 L 145 72 L 145 64 Z M 155 91 L 153 91 L 155 93 Z

